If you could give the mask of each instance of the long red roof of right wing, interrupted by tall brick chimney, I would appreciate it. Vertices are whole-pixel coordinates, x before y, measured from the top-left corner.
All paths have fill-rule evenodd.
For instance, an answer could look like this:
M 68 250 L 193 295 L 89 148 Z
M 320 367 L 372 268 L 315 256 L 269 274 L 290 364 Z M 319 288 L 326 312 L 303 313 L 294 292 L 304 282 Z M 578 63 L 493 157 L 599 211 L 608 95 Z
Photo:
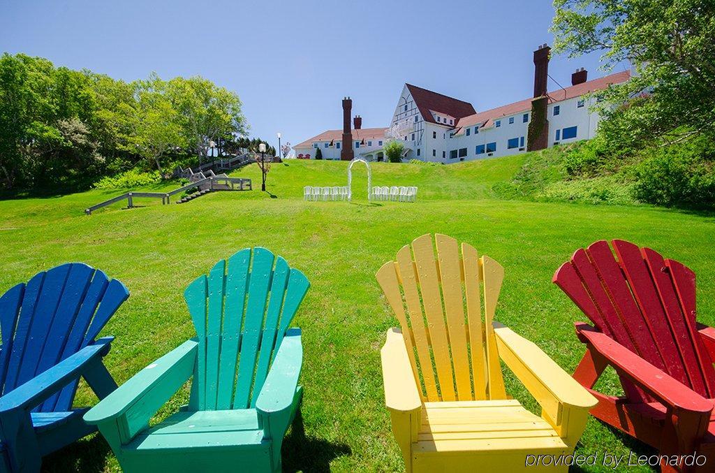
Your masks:
M 571 87 L 566 87 L 566 89 L 558 89 L 555 92 L 548 92 L 548 103 L 553 104 L 554 102 L 581 97 L 581 95 L 588 94 L 589 92 L 606 89 L 611 84 L 621 84 L 621 82 L 626 82 L 630 78 L 630 71 L 616 72 L 616 74 L 589 80 L 583 82 L 583 84 L 572 85 Z M 455 127 L 466 128 L 472 125 L 489 127 L 493 124 L 493 121 L 499 117 L 507 117 L 508 115 L 531 110 L 531 100 L 532 99 L 523 99 L 513 104 L 502 105 L 501 107 L 463 117 L 457 122 Z

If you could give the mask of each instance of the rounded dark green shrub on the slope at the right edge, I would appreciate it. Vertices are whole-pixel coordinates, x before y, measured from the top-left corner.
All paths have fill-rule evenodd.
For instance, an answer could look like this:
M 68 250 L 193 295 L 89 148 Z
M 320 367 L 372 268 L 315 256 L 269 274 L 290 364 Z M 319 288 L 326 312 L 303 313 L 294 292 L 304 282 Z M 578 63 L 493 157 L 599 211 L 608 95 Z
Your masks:
M 708 140 L 650 153 L 633 169 L 638 199 L 666 207 L 715 208 L 715 150 Z

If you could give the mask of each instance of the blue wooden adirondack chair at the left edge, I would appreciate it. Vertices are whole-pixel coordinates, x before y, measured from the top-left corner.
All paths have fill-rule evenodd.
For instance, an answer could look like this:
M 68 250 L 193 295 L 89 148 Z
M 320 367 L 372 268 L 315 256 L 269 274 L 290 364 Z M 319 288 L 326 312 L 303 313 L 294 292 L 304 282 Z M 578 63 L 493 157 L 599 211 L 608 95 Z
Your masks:
M 0 471 L 39 472 L 43 455 L 96 430 L 72 401 L 80 376 L 99 399 L 117 389 L 102 364 L 113 337 L 94 338 L 128 297 L 122 283 L 82 263 L 0 297 Z

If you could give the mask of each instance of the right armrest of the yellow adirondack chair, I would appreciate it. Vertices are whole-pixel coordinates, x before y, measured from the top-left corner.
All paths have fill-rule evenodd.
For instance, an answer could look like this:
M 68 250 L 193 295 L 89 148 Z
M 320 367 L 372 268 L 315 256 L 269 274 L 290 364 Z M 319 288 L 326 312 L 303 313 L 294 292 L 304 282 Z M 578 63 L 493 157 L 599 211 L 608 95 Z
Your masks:
M 536 343 L 494 323 L 499 356 L 541 405 L 541 416 L 573 444 L 586 427 L 588 409 L 598 402 Z

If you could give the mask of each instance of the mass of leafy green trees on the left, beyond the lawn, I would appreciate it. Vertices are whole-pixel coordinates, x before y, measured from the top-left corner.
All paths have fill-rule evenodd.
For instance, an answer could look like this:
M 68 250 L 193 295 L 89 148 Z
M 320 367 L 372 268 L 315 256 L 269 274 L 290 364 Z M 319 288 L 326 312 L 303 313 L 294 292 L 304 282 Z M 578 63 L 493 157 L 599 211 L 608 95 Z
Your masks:
M 140 166 L 162 171 L 227 150 L 247 124 L 235 92 L 202 77 L 134 82 L 0 57 L 0 182 L 8 189 L 82 185 Z

